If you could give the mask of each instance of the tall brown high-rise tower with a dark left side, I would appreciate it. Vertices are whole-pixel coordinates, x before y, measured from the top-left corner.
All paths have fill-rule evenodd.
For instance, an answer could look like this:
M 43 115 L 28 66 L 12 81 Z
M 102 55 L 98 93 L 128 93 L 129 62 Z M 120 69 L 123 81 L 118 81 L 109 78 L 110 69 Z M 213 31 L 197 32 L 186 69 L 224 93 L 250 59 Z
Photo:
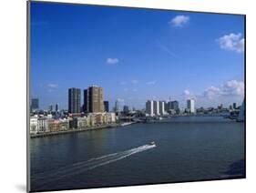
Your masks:
M 104 112 L 103 88 L 90 86 L 84 90 L 84 111 L 87 113 Z

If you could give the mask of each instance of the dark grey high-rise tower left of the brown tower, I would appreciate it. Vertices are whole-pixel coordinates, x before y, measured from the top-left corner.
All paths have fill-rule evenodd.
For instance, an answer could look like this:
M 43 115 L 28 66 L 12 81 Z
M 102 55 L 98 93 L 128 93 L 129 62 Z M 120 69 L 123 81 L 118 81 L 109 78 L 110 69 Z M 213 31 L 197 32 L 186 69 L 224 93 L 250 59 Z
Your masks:
M 80 113 L 81 90 L 79 88 L 68 89 L 68 113 Z

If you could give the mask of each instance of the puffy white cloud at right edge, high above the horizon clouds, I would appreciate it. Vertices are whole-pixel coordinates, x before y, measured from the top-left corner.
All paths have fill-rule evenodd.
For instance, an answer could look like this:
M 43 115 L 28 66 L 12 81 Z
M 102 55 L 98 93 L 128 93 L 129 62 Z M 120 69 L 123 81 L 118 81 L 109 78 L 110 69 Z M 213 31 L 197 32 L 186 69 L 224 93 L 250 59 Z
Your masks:
M 220 48 L 242 53 L 244 51 L 244 38 L 241 33 L 225 35 L 217 40 L 220 44 Z

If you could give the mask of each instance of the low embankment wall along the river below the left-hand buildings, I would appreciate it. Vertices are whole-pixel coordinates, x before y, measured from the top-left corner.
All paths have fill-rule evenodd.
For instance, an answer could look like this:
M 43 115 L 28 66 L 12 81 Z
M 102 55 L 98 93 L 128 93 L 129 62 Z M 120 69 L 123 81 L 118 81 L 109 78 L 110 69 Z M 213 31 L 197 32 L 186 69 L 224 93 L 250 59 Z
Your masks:
M 69 134 L 69 133 L 77 133 L 77 132 L 84 132 L 84 131 L 89 131 L 89 130 L 96 130 L 96 129 L 102 129 L 102 128 L 111 128 L 111 127 L 121 127 L 121 126 L 122 126 L 121 123 L 115 123 L 115 124 L 108 124 L 108 125 L 97 126 L 97 127 L 74 128 L 74 129 L 65 130 L 65 131 L 30 134 L 30 138 L 49 137 L 49 136 L 64 135 L 64 134 Z

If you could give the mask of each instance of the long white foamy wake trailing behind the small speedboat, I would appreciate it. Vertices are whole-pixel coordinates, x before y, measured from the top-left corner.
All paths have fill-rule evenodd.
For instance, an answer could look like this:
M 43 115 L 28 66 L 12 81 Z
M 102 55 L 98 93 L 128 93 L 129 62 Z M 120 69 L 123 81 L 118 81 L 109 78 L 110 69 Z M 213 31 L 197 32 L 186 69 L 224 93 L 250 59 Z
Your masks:
M 38 185 L 38 186 L 44 186 L 49 182 L 52 182 L 54 180 L 60 179 L 60 178 L 66 178 L 74 175 L 78 175 L 80 173 L 83 173 L 87 170 L 91 170 L 94 168 L 98 168 L 101 166 L 105 166 L 107 164 L 110 164 L 112 162 L 116 162 L 120 159 L 129 157 L 134 154 L 138 154 L 139 152 L 146 151 L 150 148 L 156 147 L 155 144 L 153 145 L 144 145 L 141 147 L 131 148 L 125 151 L 108 154 L 102 157 L 93 157 L 86 161 L 81 161 L 74 163 L 72 165 L 58 168 L 56 170 L 46 171 L 42 173 L 37 173 L 31 176 L 31 184 Z M 36 186 L 37 187 L 37 186 Z

